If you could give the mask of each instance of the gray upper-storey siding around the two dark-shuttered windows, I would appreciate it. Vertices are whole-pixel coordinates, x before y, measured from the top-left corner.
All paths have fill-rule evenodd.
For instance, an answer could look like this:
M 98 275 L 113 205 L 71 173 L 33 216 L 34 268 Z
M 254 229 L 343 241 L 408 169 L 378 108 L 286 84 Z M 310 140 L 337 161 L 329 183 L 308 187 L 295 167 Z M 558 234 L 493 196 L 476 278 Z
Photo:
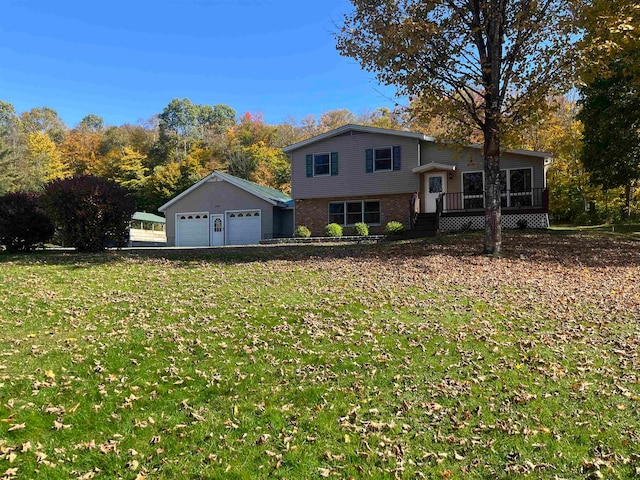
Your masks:
M 401 147 L 401 169 L 366 173 L 365 152 L 375 147 Z M 307 177 L 306 156 L 338 152 L 338 175 Z M 366 195 L 410 193 L 420 186 L 420 178 L 411 172 L 420 165 L 417 139 L 386 134 L 347 132 L 318 141 L 291 153 L 291 196 L 303 198 L 337 198 Z

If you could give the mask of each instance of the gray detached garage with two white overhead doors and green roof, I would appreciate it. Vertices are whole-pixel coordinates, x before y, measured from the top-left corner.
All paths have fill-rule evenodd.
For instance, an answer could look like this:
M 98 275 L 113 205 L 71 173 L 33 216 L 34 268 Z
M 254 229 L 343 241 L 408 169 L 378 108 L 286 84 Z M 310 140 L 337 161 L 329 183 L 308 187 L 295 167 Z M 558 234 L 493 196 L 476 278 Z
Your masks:
M 251 245 L 293 234 L 288 195 L 222 172 L 213 172 L 159 210 L 167 219 L 167 245 Z

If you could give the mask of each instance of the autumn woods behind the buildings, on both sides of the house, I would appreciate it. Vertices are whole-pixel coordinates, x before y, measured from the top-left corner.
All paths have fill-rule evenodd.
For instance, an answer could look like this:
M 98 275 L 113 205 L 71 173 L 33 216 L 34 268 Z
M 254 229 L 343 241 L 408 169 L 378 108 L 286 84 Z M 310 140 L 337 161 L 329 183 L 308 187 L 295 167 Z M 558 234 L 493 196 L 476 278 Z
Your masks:
M 619 175 L 590 173 L 583 163 L 584 125 L 578 114 L 584 108 L 565 96 L 547 102 L 534 121 L 507 141 L 512 147 L 554 154 L 548 172 L 553 219 L 619 220 L 628 198 L 635 212 L 636 189 L 627 197 L 627 185 L 612 185 Z M 419 108 L 379 108 L 360 115 L 332 110 L 300 122 L 269 125 L 257 114 L 236 118 L 228 105 L 175 99 L 161 114 L 136 125 L 105 126 L 101 117 L 89 114 L 73 128 L 48 107 L 16 113 L 10 103 L 0 102 L 0 111 L 0 195 L 40 191 L 52 180 L 93 175 L 128 189 L 138 209 L 148 212 L 213 170 L 288 193 L 290 165 L 282 147 L 348 123 L 451 137 L 445 116 L 425 117 Z M 479 140 L 474 132 L 456 134 L 462 142 Z

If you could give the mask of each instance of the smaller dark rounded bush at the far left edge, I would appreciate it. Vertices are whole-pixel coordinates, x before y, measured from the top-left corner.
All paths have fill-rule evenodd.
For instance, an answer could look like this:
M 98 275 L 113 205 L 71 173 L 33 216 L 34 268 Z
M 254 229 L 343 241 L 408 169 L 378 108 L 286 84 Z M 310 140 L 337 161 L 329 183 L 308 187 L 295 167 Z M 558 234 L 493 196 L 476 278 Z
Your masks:
M 0 245 L 28 252 L 53 237 L 54 227 L 39 202 L 39 194 L 12 192 L 0 197 Z

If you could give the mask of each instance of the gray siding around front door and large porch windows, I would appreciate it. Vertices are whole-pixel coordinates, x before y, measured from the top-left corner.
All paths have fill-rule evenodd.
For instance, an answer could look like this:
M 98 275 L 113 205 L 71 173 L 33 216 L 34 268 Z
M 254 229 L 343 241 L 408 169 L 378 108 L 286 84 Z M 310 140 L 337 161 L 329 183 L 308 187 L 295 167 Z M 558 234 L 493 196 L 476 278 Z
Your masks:
M 457 193 L 462 191 L 462 173 L 484 170 L 482 150 L 476 148 L 455 148 L 441 145 L 422 144 L 422 165 L 435 162 L 455 165 L 451 179 L 447 182 L 447 191 Z M 503 153 L 500 156 L 500 169 L 532 168 L 533 188 L 544 188 L 544 158 L 516 153 Z

